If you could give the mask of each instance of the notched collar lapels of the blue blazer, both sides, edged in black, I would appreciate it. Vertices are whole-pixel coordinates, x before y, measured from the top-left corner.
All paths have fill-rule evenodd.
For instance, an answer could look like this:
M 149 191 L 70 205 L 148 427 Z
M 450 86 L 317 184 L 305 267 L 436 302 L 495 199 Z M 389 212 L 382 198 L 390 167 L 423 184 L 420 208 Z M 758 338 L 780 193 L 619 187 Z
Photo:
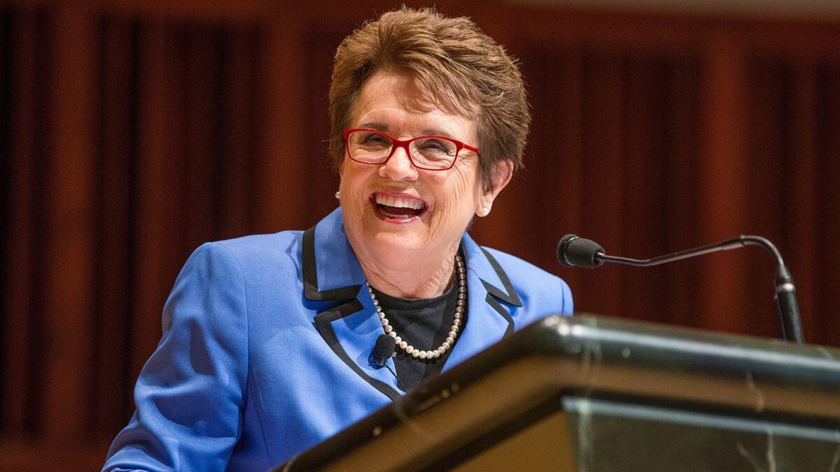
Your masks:
M 468 234 L 461 249 L 467 265 L 467 323 L 444 370 L 512 333 L 513 307 L 522 306 L 501 265 L 486 249 Z M 391 400 L 402 396 L 405 392 L 394 375 L 368 361 L 383 332 L 365 274 L 344 233 L 340 208 L 303 233 L 302 278 L 304 297 L 318 307 L 315 327 L 333 353 Z M 395 370 L 393 359 L 388 359 L 388 364 Z

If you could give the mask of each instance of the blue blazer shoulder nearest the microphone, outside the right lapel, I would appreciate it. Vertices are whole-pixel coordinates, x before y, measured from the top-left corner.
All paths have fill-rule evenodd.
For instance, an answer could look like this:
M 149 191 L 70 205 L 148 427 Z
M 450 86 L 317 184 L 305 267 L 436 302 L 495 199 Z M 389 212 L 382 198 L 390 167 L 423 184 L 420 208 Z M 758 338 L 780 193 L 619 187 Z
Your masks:
M 571 290 L 563 279 L 515 255 L 486 246 L 481 246 L 481 250 L 491 260 L 491 264 L 495 261 L 499 265 L 523 307 L 545 307 L 549 311 L 559 310 L 563 314 L 572 312 Z

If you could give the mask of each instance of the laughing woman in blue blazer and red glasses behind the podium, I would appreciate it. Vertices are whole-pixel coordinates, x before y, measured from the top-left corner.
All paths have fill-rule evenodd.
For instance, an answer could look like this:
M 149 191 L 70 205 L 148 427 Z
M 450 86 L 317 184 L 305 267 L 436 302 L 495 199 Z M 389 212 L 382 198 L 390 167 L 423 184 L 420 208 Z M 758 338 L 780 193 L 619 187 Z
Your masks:
M 340 208 L 192 254 L 105 469 L 268 469 L 571 312 L 563 281 L 465 233 L 528 133 L 500 46 L 466 18 L 386 13 L 339 46 L 329 97 Z M 369 360 L 383 334 L 397 345 L 386 368 Z

